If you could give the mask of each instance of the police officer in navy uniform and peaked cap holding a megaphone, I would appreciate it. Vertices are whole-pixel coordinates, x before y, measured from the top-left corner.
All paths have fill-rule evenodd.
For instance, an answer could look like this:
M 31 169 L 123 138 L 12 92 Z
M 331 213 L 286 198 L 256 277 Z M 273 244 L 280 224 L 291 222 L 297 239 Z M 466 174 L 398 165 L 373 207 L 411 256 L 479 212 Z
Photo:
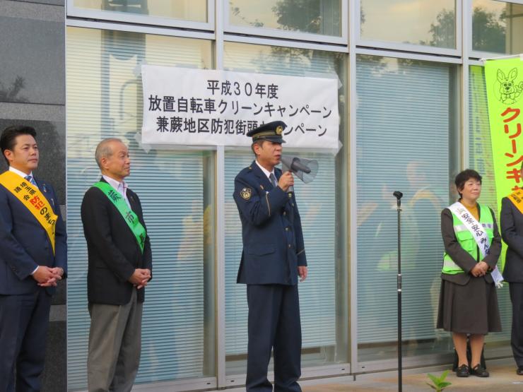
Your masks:
M 243 251 L 237 283 L 247 284 L 249 305 L 246 388 L 272 391 L 267 367 L 274 350 L 275 391 L 301 391 L 298 276 L 307 261 L 293 174 L 276 168 L 286 124 L 273 121 L 247 133 L 256 160 L 235 178 Z

